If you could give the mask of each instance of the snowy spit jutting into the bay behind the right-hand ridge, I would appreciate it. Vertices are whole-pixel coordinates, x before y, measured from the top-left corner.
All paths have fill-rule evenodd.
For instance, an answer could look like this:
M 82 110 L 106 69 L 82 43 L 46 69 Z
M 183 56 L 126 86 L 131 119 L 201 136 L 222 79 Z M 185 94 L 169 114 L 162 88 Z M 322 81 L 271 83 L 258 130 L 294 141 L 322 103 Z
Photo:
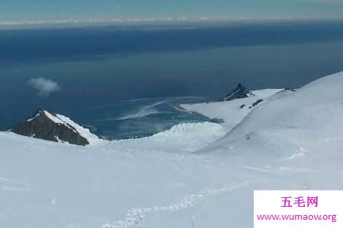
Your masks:
M 210 103 L 195 103 L 185 104 L 181 107 L 190 112 L 198 112 L 209 118 L 220 118 L 224 120 L 223 126 L 229 131 L 237 125 L 253 108 L 252 104 L 259 99 L 267 99 L 268 97 L 282 91 L 282 89 L 265 89 L 252 91 L 254 96 L 235 99 L 232 101 L 210 102 Z M 244 105 L 244 107 L 241 107 Z M 251 108 L 249 108 L 251 107 Z

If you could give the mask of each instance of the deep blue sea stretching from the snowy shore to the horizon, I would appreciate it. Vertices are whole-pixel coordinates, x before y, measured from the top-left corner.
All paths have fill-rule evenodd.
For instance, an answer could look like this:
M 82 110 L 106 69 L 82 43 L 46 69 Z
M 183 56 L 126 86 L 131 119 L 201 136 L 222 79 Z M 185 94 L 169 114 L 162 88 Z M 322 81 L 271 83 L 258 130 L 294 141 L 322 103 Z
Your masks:
M 105 138 L 209 121 L 180 103 L 250 89 L 298 88 L 343 70 L 343 22 L 0 30 L 0 130 L 38 108 Z M 27 82 L 54 80 L 40 97 Z

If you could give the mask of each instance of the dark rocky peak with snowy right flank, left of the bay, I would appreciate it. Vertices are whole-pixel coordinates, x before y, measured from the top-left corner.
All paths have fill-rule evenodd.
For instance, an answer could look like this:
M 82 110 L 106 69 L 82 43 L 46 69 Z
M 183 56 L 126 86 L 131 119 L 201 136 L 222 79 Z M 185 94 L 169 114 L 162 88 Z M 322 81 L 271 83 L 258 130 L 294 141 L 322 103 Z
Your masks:
M 31 118 L 22 121 L 11 131 L 22 136 L 80 146 L 91 144 L 98 139 L 88 129 L 84 129 L 70 118 L 45 110 L 38 110 Z

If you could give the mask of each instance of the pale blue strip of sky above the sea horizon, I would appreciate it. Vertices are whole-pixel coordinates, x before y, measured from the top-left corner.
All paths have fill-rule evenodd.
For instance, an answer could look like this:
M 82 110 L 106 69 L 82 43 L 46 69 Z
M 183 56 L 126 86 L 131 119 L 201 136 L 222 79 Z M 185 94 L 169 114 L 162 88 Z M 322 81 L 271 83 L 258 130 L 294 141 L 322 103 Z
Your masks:
M 0 23 L 54 20 L 342 18 L 343 0 L 1 0 Z

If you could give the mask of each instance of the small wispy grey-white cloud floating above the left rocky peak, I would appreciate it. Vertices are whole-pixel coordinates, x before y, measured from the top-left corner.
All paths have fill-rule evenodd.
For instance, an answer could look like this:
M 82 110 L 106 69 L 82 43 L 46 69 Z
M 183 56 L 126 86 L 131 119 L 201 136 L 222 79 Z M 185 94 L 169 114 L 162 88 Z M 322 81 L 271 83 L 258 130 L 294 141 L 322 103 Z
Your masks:
M 57 82 L 43 77 L 29 79 L 28 84 L 36 90 L 40 97 L 48 97 L 49 94 L 58 92 L 61 89 Z

